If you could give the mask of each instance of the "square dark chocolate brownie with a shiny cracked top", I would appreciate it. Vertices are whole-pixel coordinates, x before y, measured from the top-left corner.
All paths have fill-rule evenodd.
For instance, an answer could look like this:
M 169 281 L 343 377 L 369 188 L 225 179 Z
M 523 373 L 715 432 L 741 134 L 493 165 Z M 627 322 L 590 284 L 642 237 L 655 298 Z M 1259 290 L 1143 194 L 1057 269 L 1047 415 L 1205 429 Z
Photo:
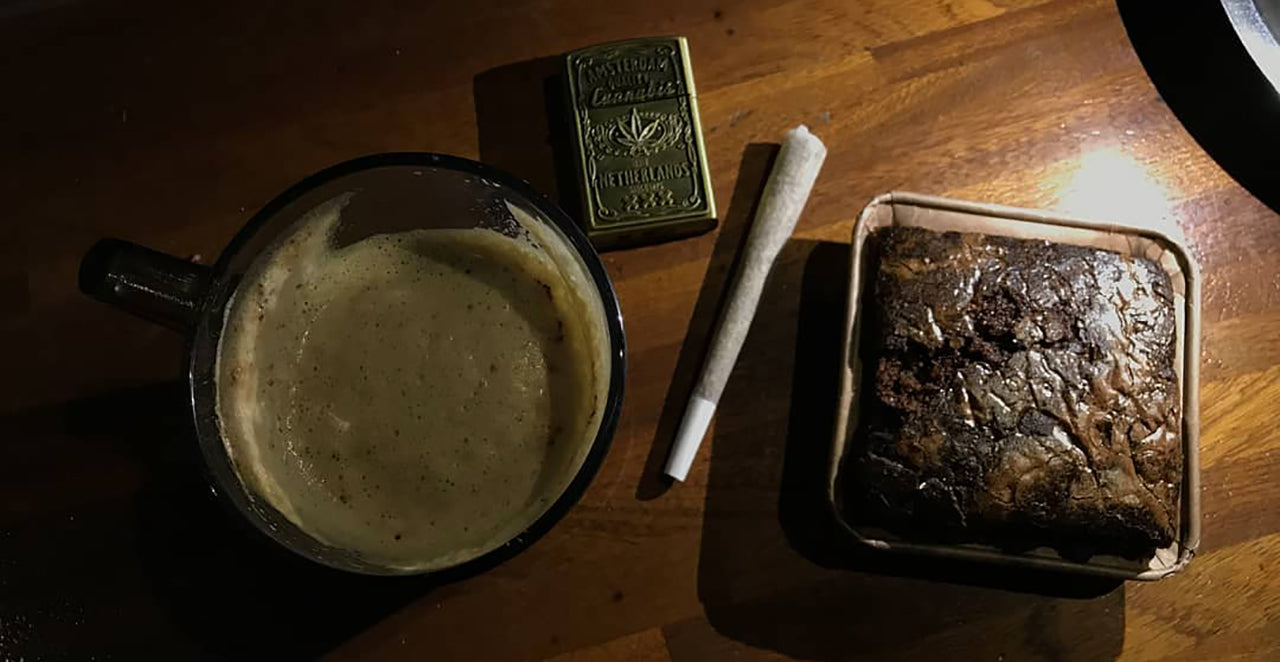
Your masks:
M 846 511 L 909 539 L 1149 556 L 1183 452 L 1169 274 L 920 228 L 872 236 Z

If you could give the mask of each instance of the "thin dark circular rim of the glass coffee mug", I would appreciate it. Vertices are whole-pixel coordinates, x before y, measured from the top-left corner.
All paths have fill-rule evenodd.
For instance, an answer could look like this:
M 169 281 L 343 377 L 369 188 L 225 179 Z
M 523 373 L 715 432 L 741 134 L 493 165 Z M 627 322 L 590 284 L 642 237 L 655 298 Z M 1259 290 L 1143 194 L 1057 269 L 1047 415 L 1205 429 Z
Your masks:
M 556 496 L 552 505 L 543 511 L 541 515 L 508 540 L 500 543 L 493 549 L 483 552 L 476 557 L 462 561 L 461 563 L 443 566 L 439 569 L 403 570 L 375 563 L 344 565 L 326 554 L 317 554 L 312 549 L 303 549 L 298 544 L 293 544 L 292 542 L 284 539 L 280 526 L 287 530 L 292 529 L 289 533 L 296 531 L 297 534 L 301 534 L 303 539 L 316 543 L 320 548 L 355 554 L 353 551 L 333 547 L 316 539 L 314 535 L 306 533 L 291 520 L 284 517 L 283 513 L 275 510 L 274 506 L 270 506 L 270 503 L 266 503 L 266 507 L 278 516 L 274 519 L 279 521 L 268 521 L 264 513 L 261 513 L 257 508 L 251 507 L 248 488 L 244 485 L 243 480 L 241 480 L 239 474 L 236 471 L 230 460 L 230 455 L 227 452 L 225 440 L 221 434 L 221 425 L 216 415 L 216 348 L 221 342 L 221 327 L 225 318 L 227 305 L 230 302 L 232 295 L 238 288 L 238 284 L 228 287 L 230 286 L 230 283 L 228 283 L 228 271 L 232 260 L 241 256 L 250 239 L 269 225 L 282 210 L 302 196 L 343 177 L 360 172 L 393 166 L 445 169 L 480 177 L 497 183 L 500 190 L 509 191 L 527 201 L 545 218 L 547 222 L 559 230 L 562 237 L 566 239 L 566 243 L 572 247 L 573 252 L 579 256 L 579 259 L 581 259 L 588 274 L 590 274 L 591 283 L 595 286 L 596 293 L 600 297 L 600 303 L 604 309 L 604 323 L 609 344 L 609 383 L 605 389 L 600 424 L 596 429 L 594 439 L 590 439 L 589 442 L 590 447 L 582 457 L 582 462 L 579 465 L 564 489 Z M 252 256 L 252 259 L 256 257 L 256 255 Z M 218 261 L 212 265 L 211 274 L 212 284 L 201 301 L 198 321 L 195 325 L 193 332 L 188 334 L 187 339 L 187 383 L 197 442 L 201 447 L 204 467 L 206 472 L 210 474 L 209 479 L 214 494 L 219 497 L 219 501 L 229 503 L 229 506 L 239 513 L 239 517 L 252 524 L 253 530 L 269 538 L 276 547 L 289 549 L 308 561 L 348 572 L 392 576 L 431 575 L 445 579 L 461 579 L 463 576 L 470 576 L 492 569 L 527 549 L 534 542 L 545 535 L 564 517 L 564 515 L 568 513 L 568 511 L 582 498 L 586 488 L 599 472 L 604 456 L 608 453 L 612 444 L 613 434 L 617 429 L 618 416 L 622 408 L 622 397 L 626 382 L 626 337 L 622 325 L 622 312 L 618 306 L 617 293 L 613 289 L 613 282 L 604 270 L 604 264 L 600 261 L 599 254 L 591 246 L 586 234 L 558 204 L 553 202 L 549 197 L 524 179 L 471 159 L 435 152 L 380 152 L 342 161 L 298 181 L 255 213 L 253 216 L 251 216 L 250 220 L 236 232 L 236 236 L 223 248 Z M 197 351 L 201 348 L 201 343 L 212 346 L 211 361 L 206 360 L 206 357 Z M 204 348 L 207 350 L 209 347 Z M 219 467 L 225 465 L 227 469 L 220 470 L 215 467 L 215 465 Z M 228 480 L 228 478 L 230 480 Z

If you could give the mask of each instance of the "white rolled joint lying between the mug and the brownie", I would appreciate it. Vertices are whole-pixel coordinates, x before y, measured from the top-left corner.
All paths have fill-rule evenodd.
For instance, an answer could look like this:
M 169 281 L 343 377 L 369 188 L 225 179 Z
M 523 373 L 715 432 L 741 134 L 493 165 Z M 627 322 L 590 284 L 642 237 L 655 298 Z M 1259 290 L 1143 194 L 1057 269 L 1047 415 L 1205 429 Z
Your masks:
M 809 192 L 826 157 L 827 147 L 803 124 L 788 131 L 782 140 L 782 150 L 764 186 L 724 314 L 708 350 L 707 364 L 689 398 L 689 407 L 667 458 L 666 474 L 676 480 L 682 481 L 689 475 L 689 467 L 710 425 L 737 353 L 742 350 L 751 319 L 755 318 L 764 280 L 800 219 L 800 211 L 809 200 Z

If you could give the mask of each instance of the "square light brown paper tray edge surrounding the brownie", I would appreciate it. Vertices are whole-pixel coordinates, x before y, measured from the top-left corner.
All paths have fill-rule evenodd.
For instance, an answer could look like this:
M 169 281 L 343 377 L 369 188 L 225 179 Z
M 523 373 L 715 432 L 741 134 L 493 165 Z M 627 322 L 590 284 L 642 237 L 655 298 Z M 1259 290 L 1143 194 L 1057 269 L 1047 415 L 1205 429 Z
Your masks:
M 1176 342 L 1174 369 L 1181 393 L 1183 487 L 1175 542 L 1151 558 L 1128 560 L 1094 554 L 1085 562 L 1059 556 L 1050 548 L 1006 552 L 984 544 L 914 543 L 878 528 L 856 524 L 837 497 L 837 481 L 850 439 L 858 433 L 863 366 L 859 352 L 861 301 L 870 296 L 874 265 L 864 260 L 868 236 L 878 228 L 902 225 L 940 232 L 975 232 L 1023 239 L 1088 246 L 1147 257 L 1170 277 L 1174 289 Z M 845 321 L 840 403 L 828 472 L 827 498 L 836 520 L 858 542 L 883 552 L 946 557 L 1021 567 L 1039 567 L 1119 579 L 1157 580 L 1187 567 L 1199 545 L 1199 269 L 1178 239 L 1160 230 L 1083 220 L 1047 211 L 964 202 L 920 193 L 884 193 L 867 205 L 854 225 L 851 287 Z

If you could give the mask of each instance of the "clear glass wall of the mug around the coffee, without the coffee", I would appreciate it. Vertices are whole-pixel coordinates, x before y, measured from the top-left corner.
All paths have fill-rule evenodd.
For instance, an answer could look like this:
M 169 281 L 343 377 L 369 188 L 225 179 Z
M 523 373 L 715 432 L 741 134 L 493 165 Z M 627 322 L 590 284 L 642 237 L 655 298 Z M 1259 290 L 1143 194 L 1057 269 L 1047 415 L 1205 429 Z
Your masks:
M 599 414 L 571 455 L 563 475 L 548 484 L 547 506 L 525 515 L 481 548 L 422 566 L 390 565 L 335 547 L 303 530 L 237 472 L 218 415 L 218 359 L 228 311 L 255 265 L 308 222 L 320 207 L 342 205 L 334 247 L 415 229 L 485 228 L 529 242 L 547 255 L 580 296 L 598 330 L 593 341 Z M 420 574 L 506 556 L 550 528 L 594 475 L 616 425 L 622 396 L 625 346 L 612 284 L 581 230 L 557 206 L 520 181 L 481 164 L 439 155 L 379 155 L 325 170 L 289 190 L 236 237 L 215 265 L 215 283 L 189 347 L 192 407 L 200 446 L 216 490 L 260 531 L 312 561 L 364 574 Z

